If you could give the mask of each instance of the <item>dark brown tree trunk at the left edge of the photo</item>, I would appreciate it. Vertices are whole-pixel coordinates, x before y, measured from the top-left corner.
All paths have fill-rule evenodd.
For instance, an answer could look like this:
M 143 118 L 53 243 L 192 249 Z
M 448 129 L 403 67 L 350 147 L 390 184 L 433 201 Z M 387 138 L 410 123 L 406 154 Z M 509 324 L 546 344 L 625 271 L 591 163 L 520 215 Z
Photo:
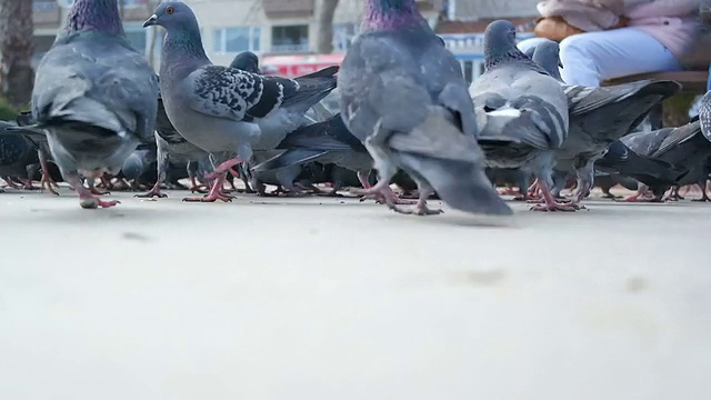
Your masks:
M 33 36 L 32 1 L 0 0 L 0 88 L 14 107 L 32 97 Z

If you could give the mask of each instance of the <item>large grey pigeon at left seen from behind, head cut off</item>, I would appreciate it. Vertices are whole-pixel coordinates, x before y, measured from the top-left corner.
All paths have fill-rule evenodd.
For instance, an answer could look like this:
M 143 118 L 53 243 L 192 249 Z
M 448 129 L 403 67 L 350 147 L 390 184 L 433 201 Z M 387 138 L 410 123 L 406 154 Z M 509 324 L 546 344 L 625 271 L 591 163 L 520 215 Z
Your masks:
M 82 208 L 118 203 L 100 200 L 79 174 L 116 174 L 139 143 L 152 140 L 157 97 L 156 74 L 126 38 L 117 0 L 74 1 L 38 66 L 32 116 Z

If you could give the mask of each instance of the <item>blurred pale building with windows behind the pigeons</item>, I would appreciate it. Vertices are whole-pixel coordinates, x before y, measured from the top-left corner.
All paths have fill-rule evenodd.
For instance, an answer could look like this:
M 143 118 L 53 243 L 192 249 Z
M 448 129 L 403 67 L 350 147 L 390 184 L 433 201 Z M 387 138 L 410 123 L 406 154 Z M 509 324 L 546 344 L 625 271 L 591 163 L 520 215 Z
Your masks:
M 73 0 L 32 0 L 34 59 L 51 47 Z M 120 0 L 127 36 L 139 51 L 151 48 L 161 28 L 143 29 L 159 0 Z M 334 54 L 317 54 L 318 13 L 323 0 L 183 0 L 198 16 L 208 57 L 228 64 L 241 51 L 262 58 L 266 67 L 301 74 L 338 63 L 356 36 L 363 0 L 340 0 L 333 18 Z M 422 14 L 462 63 L 468 80 L 482 71 L 482 36 L 493 19 L 507 18 L 523 27 L 535 18 L 539 0 L 418 0 Z M 61 7 L 60 7 L 61 4 Z M 531 28 L 531 27 L 529 27 Z M 523 33 L 521 37 L 525 37 Z M 152 62 L 160 63 L 161 41 L 153 42 Z

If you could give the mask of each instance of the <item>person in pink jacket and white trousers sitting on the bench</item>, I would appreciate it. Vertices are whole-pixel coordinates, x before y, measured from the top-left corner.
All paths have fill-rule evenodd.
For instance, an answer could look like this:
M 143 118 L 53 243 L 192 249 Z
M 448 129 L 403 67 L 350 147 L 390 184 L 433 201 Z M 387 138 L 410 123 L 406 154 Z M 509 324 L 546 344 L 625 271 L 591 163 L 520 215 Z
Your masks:
M 683 70 L 680 58 L 699 31 L 702 0 L 547 0 L 543 17 L 559 17 L 574 31 L 560 41 L 561 76 L 569 84 L 599 87 L 638 73 Z M 552 39 L 552 38 L 551 38 Z M 531 38 L 522 51 L 540 43 Z

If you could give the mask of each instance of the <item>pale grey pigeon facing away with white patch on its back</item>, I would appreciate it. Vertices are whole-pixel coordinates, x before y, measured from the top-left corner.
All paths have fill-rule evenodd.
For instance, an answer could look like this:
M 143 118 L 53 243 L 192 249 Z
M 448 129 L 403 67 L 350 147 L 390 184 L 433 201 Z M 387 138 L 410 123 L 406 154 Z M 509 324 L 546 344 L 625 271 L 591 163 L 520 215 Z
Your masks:
M 574 211 L 551 194 L 554 152 L 568 138 L 563 86 L 517 48 L 511 22 L 498 20 L 487 27 L 484 73 L 469 91 L 489 167 L 533 174 L 544 203 L 532 210 Z

